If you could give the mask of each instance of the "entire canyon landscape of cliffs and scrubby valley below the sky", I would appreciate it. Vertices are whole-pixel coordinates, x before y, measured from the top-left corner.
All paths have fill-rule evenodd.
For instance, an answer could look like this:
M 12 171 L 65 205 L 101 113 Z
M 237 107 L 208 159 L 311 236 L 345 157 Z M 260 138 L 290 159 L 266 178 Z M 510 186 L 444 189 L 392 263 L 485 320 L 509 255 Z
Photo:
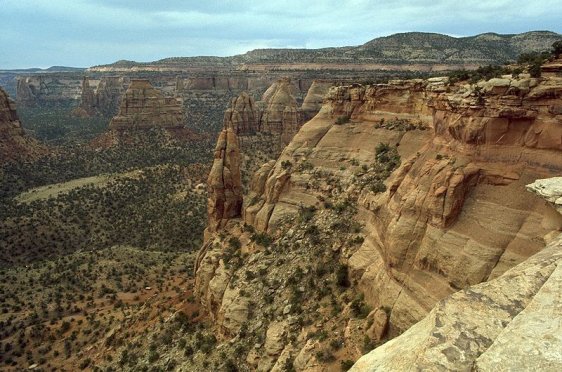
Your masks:
M 559 39 L 10 75 L 98 127 L 0 89 L 6 367 L 559 370 L 562 60 L 447 76 Z

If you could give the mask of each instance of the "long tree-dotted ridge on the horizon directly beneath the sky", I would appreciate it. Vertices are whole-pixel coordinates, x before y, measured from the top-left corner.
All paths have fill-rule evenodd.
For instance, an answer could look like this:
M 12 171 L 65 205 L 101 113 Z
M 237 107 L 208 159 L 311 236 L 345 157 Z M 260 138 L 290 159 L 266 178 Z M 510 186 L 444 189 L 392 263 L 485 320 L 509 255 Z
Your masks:
M 181 67 L 216 64 L 423 64 L 486 65 L 515 60 L 521 53 L 550 49 L 562 35 L 551 31 L 521 34 L 493 32 L 475 36 L 453 37 L 438 33 L 405 32 L 379 37 L 359 46 L 321 49 L 255 49 L 231 57 L 170 57 L 154 62 L 118 61 L 94 68 L 110 67 Z

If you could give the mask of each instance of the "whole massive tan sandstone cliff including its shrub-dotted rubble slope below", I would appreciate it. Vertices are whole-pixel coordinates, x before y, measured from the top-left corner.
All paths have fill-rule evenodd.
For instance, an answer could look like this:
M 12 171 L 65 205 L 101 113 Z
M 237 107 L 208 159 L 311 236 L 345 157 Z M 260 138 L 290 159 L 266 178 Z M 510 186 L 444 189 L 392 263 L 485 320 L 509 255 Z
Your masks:
M 299 327 L 289 306 L 300 296 L 299 319 L 314 311 L 310 285 L 320 279 L 313 273 L 324 272 L 315 265 L 334 275 L 338 262 L 345 266 L 352 293 L 331 300 L 345 310 L 320 323 L 343 332 L 338 357 L 354 359 L 365 330 L 376 342 L 394 337 L 441 299 L 539 252 L 562 222 L 525 185 L 562 172 L 561 86 L 557 78 L 504 77 L 475 86 L 434 78 L 332 88 L 278 160 L 254 175 L 246 225 L 232 220 L 223 231 L 235 240 L 210 236 L 201 251 L 196 293 L 217 333 L 260 329 L 273 311 L 290 330 L 279 336 L 270 324 L 266 345 L 271 333 L 275 347 L 261 358 L 248 354 L 248 363 L 276 369 L 289 358 L 297 370 L 330 370 L 314 357 L 324 353 L 322 342 L 306 336 L 318 328 Z M 237 244 L 228 244 L 236 239 L 250 254 L 243 269 Z M 265 282 L 239 273 L 262 268 L 269 268 Z M 301 295 L 284 297 L 289 288 Z M 373 309 L 366 325 L 349 319 L 362 308 L 359 300 L 346 303 L 356 290 Z

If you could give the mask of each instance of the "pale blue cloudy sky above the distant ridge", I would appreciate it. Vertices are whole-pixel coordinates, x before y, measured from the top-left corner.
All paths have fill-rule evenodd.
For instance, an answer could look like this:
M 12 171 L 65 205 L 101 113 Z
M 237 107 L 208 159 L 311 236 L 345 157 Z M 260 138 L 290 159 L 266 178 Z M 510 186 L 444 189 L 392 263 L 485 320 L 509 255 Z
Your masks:
M 360 45 L 398 32 L 562 33 L 562 0 L 0 0 L 0 69 Z

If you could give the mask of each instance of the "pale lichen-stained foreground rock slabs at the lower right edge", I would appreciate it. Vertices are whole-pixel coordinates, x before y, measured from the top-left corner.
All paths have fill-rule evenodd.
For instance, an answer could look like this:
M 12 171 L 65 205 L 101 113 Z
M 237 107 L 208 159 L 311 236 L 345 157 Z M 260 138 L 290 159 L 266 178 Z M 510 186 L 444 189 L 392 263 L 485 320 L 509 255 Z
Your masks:
M 560 177 L 529 185 L 551 203 Z M 562 218 L 562 216 L 560 216 Z M 351 371 L 562 368 L 562 235 L 500 277 L 440 301 L 422 321 Z

